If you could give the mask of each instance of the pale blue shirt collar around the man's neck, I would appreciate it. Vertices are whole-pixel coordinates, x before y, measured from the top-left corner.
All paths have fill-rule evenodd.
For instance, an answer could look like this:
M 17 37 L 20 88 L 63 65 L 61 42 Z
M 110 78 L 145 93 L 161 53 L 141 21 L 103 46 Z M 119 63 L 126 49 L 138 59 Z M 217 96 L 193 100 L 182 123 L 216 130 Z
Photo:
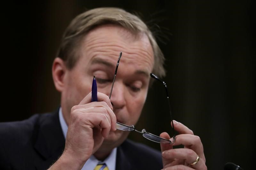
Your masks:
M 68 125 L 64 120 L 64 117 L 62 115 L 62 109 L 60 107 L 59 110 L 59 118 L 60 118 L 60 126 L 63 132 L 63 135 L 65 137 L 67 137 L 67 132 L 68 132 Z M 114 170 L 116 169 L 116 148 L 114 148 L 112 150 L 112 152 L 110 153 L 110 155 L 104 160 L 104 161 L 100 161 L 98 159 L 96 159 L 93 155 L 85 162 L 82 170 L 92 170 L 95 168 L 96 165 L 98 164 L 103 164 L 105 163 L 108 166 L 109 170 Z

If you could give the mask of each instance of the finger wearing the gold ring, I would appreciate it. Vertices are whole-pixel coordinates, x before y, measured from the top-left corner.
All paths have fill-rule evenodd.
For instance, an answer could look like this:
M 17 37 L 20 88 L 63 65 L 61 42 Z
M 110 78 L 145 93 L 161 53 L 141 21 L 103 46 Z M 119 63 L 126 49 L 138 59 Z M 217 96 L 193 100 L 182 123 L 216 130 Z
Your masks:
M 185 160 L 186 165 L 189 165 L 196 161 L 197 154 L 195 151 L 187 148 L 179 148 L 179 149 L 172 149 L 164 151 L 162 154 L 163 158 L 165 159 L 182 159 Z M 204 167 L 204 161 L 199 161 L 193 166 L 193 168 L 201 169 Z

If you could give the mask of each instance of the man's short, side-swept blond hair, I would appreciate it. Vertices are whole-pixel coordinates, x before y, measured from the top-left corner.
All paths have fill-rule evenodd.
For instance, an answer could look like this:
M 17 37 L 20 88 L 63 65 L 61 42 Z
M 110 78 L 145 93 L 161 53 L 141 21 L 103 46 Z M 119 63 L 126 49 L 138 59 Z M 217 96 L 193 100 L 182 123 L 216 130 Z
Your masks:
M 165 76 L 164 55 L 152 32 L 139 17 L 120 8 L 95 8 L 74 18 L 63 34 L 57 57 L 66 62 L 68 69 L 72 69 L 79 58 L 76 51 L 83 37 L 93 28 L 105 24 L 122 26 L 134 35 L 145 33 L 154 51 L 153 73 L 159 77 Z

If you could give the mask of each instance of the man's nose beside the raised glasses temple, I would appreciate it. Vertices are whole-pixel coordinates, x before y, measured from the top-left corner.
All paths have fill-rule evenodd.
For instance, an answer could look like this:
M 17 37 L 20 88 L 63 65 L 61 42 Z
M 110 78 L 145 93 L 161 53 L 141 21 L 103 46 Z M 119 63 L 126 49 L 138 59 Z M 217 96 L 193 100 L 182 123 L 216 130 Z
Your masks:
M 116 81 L 112 94 L 111 94 L 111 103 L 114 109 L 121 109 L 125 106 L 125 85 L 121 81 Z

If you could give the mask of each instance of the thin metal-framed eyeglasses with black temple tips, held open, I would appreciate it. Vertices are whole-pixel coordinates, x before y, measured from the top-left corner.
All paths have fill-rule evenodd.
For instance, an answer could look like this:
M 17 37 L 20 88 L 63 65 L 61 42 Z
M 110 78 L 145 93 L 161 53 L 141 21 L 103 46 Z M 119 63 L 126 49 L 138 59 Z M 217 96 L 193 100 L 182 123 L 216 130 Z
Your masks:
M 117 64 L 116 64 L 116 71 L 115 71 L 114 80 L 113 80 L 113 83 L 112 83 L 109 99 L 111 98 L 111 93 L 112 93 L 112 90 L 113 90 L 113 86 L 114 86 L 114 82 L 115 82 L 115 78 L 116 78 L 116 72 L 117 72 L 117 68 L 118 68 L 121 56 L 122 56 L 122 51 L 120 52 L 120 55 L 118 57 L 118 61 L 117 61 Z M 171 140 L 168 140 L 168 139 L 156 136 L 156 135 L 154 135 L 152 133 L 148 133 L 146 131 L 146 129 L 142 129 L 141 132 L 140 132 L 140 131 L 136 130 L 133 125 L 128 126 L 128 125 L 125 125 L 125 124 L 119 123 L 119 122 L 116 122 L 116 129 L 123 130 L 123 131 L 135 131 L 135 132 L 138 132 L 138 133 L 142 134 L 143 137 L 145 137 L 148 140 L 151 140 L 153 142 L 157 142 L 157 143 L 161 143 L 161 144 L 173 144 L 175 142 L 176 135 L 175 135 L 175 131 L 174 131 L 174 125 L 173 125 L 173 120 L 172 120 L 172 112 L 171 112 L 171 105 L 170 105 L 170 100 L 169 100 L 169 96 L 168 96 L 168 91 L 167 91 L 166 83 L 164 81 L 162 81 L 161 79 L 159 79 L 153 73 L 150 73 L 150 76 L 152 78 L 155 78 L 156 80 L 160 81 L 161 83 L 163 83 L 163 85 L 165 87 L 165 92 L 166 92 L 166 96 L 167 96 L 167 100 L 168 100 L 168 105 L 169 105 L 170 116 L 171 116 L 172 129 L 173 129 L 173 132 L 174 132 L 174 136 L 172 137 L 173 140 L 171 141 Z

